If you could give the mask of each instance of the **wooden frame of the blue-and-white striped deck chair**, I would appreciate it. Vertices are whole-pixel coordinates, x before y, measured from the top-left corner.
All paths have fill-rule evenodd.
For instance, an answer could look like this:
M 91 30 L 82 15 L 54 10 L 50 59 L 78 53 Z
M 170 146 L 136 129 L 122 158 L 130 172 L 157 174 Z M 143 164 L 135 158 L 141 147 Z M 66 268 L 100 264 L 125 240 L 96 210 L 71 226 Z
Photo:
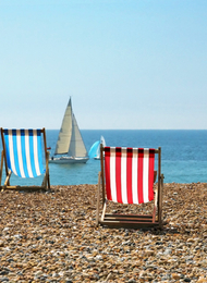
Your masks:
M 8 168 L 8 160 L 7 160 L 7 153 L 5 153 L 5 140 L 4 140 L 4 130 L 1 127 L 1 140 L 2 140 L 2 147 L 3 150 L 1 152 L 1 168 L 0 168 L 0 189 L 44 189 L 47 190 L 50 188 L 50 176 L 49 176 L 49 151 L 47 151 L 47 142 L 46 142 L 46 130 L 45 127 L 40 130 L 40 133 L 44 136 L 44 147 L 45 147 L 45 160 L 46 160 L 46 172 L 42 180 L 42 183 L 40 186 L 12 186 L 10 185 L 10 177 L 12 174 L 12 171 Z M 3 161 L 4 161 L 4 168 L 5 168 L 5 182 L 3 185 L 1 185 L 2 180 L 2 170 L 3 170 Z

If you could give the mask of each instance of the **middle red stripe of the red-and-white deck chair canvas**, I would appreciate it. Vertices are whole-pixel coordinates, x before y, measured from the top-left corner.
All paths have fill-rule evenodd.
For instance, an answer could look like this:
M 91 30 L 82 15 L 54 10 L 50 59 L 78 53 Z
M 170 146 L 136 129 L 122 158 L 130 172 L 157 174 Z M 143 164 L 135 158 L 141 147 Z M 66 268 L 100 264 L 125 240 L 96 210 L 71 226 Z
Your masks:
M 133 204 L 132 198 L 132 156 L 133 149 L 126 149 L 126 192 L 127 192 L 127 204 Z

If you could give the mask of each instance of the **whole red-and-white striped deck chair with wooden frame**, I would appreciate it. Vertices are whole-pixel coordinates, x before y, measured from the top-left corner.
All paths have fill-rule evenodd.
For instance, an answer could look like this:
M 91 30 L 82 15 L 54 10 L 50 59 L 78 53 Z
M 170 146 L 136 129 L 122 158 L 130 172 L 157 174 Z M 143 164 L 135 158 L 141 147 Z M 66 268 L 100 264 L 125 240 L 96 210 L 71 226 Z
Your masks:
M 155 171 L 157 157 L 157 171 Z M 109 227 L 161 227 L 162 187 L 161 148 L 121 148 L 100 146 L 101 172 L 98 177 L 96 225 Z M 156 176 L 158 183 L 154 185 Z M 156 189 L 154 189 L 154 187 Z M 100 195 L 102 192 L 102 212 Z M 151 213 L 107 213 L 109 201 L 139 205 L 154 200 Z

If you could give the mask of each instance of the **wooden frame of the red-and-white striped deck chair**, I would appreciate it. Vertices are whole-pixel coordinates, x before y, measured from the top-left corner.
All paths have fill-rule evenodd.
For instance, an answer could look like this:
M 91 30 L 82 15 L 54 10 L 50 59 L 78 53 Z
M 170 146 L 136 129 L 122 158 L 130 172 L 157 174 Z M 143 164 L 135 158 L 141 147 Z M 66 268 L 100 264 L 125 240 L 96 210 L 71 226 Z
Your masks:
M 151 214 L 119 214 L 119 213 L 106 213 L 108 199 L 106 197 L 105 189 L 105 148 L 100 145 L 100 165 L 101 172 L 98 175 L 98 193 L 97 193 L 97 213 L 96 225 L 107 225 L 109 227 L 161 227 L 162 226 L 162 188 L 163 188 L 163 174 L 161 174 L 161 148 L 155 150 L 158 155 L 158 169 L 154 171 L 154 183 L 158 175 L 157 189 L 154 197 L 154 209 Z M 102 194 L 102 212 L 100 216 L 100 195 Z

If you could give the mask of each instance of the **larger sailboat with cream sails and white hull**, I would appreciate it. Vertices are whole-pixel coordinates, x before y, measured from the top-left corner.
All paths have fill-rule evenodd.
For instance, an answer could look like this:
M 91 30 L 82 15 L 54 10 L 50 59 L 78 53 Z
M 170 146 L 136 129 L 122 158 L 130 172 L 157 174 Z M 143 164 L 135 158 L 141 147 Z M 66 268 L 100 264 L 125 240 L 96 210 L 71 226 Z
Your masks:
M 70 98 L 59 132 L 54 157 L 51 157 L 49 162 L 59 164 L 86 163 L 87 160 L 87 150 Z

